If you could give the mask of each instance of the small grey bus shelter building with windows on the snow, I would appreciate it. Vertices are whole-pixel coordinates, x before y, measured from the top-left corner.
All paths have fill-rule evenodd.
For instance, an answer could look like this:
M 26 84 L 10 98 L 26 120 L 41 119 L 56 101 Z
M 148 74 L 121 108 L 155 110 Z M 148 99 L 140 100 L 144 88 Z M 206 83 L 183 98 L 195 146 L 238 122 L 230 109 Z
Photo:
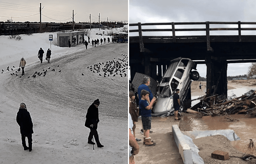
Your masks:
M 72 32 L 58 32 L 57 33 L 57 46 L 68 47 L 68 40 L 70 39 L 71 46 L 83 44 L 84 31 L 72 31 Z

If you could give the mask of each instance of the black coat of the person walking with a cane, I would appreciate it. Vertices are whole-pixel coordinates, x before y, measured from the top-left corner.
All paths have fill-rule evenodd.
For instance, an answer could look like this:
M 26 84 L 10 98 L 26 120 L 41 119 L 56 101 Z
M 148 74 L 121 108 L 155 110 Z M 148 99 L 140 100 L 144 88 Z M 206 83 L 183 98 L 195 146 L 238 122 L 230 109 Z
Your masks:
M 91 106 L 88 108 L 86 113 L 86 121 L 84 126 L 87 128 L 91 128 L 90 125 L 93 124 L 93 128 L 97 129 L 99 122 L 99 110 L 96 108 L 94 104 L 91 104 Z

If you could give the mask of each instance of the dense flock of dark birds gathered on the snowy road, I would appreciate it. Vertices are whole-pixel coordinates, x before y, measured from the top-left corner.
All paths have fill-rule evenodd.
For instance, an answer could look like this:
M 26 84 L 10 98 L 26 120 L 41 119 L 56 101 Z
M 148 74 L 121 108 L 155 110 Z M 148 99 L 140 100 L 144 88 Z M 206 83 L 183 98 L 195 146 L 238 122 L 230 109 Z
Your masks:
M 114 77 L 114 76 L 121 76 L 126 77 L 127 74 L 125 73 L 125 70 L 128 69 L 128 55 L 123 55 L 123 59 L 116 59 L 109 60 L 105 64 L 102 63 L 95 63 L 94 65 L 88 66 L 87 69 L 92 71 L 93 73 L 98 73 L 99 76 L 103 77 Z M 82 75 L 84 75 L 82 73 Z

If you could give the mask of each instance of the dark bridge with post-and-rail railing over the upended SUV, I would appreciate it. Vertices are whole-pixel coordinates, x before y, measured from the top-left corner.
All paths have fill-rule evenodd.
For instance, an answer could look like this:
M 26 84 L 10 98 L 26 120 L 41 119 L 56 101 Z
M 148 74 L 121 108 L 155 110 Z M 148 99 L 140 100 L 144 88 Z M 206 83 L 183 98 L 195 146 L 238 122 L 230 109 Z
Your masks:
M 223 26 L 223 24 L 237 27 L 210 28 L 210 25 Z M 157 75 L 157 67 L 158 72 L 164 73 L 170 60 L 184 57 L 201 60 L 196 62 L 197 64 L 206 64 L 208 96 L 214 94 L 227 96 L 227 63 L 256 62 L 256 28 L 242 28 L 254 24 L 256 22 L 240 21 L 129 24 L 129 29 L 133 26 L 138 27 L 138 30 L 129 30 L 131 80 L 136 72 L 147 74 L 154 79 L 161 79 L 161 74 Z M 160 25 L 169 25 L 172 28 L 153 29 Z M 189 27 L 175 28 L 176 25 Z M 191 26 L 205 28 L 191 28 Z M 176 36 L 177 31 L 205 31 L 205 35 Z M 210 31 L 236 31 L 238 35 L 210 35 Z M 241 31 L 249 31 L 255 35 L 241 35 Z M 142 32 L 148 32 L 151 35 L 156 32 L 172 32 L 172 36 L 143 36 Z M 131 36 L 134 34 L 138 36 Z

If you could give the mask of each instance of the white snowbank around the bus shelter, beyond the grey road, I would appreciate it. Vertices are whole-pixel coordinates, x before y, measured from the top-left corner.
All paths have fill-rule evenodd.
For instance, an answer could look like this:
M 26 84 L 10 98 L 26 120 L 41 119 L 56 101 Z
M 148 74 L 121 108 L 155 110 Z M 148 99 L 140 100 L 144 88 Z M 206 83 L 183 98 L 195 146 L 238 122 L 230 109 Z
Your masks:
M 125 28 L 127 29 L 128 25 L 125 25 L 123 28 L 113 28 L 112 30 L 106 29 L 104 30 L 104 38 L 107 39 L 109 37 L 111 41 L 111 36 L 106 35 L 108 34 L 108 32 L 112 31 L 113 33 L 117 33 L 120 31 L 124 31 Z M 103 39 L 103 35 L 101 36 L 96 34 L 102 34 L 102 31 L 103 30 L 99 30 L 98 28 L 93 28 L 87 36 L 90 36 L 90 41 L 91 39 L 100 40 L 101 38 Z M 33 35 L 20 35 L 22 40 L 9 39 L 9 36 L 0 36 L 0 70 L 3 69 L 5 71 L 7 66 L 15 66 L 17 68 L 19 66 L 20 58 L 22 57 L 24 57 L 27 62 L 26 66 L 30 66 L 39 62 L 37 54 L 40 47 L 42 47 L 42 49 L 45 52 L 44 57 L 46 55 L 48 48 L 50 48 L 49 34 L 53 34 L 51 60 L 74 52 L 79 48 L 85 47 L 84 45 L 81 46 L 81 44 L 70 48 L 58 47 L 57 32 L 44 32 Z M 108 44 L 108 40 L 106 40 L 106 44 Z M 91 43 L 89 43 L 88 48 L 93 48 L 91 47 Z M 46 60 L 43 61 L 45 62 Z

